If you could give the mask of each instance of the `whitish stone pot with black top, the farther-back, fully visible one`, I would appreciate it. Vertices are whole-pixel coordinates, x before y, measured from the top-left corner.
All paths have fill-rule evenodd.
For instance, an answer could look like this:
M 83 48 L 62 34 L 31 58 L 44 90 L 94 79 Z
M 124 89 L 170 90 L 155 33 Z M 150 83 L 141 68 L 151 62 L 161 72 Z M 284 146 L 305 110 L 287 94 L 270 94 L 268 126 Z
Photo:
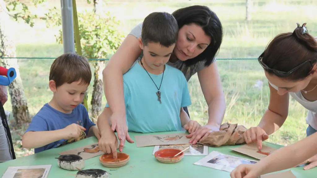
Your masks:
M 78 155 L 61 155 L 58 157 L 57 164 L 59 167 L 71 171 L 85 168 L 84 160 Z

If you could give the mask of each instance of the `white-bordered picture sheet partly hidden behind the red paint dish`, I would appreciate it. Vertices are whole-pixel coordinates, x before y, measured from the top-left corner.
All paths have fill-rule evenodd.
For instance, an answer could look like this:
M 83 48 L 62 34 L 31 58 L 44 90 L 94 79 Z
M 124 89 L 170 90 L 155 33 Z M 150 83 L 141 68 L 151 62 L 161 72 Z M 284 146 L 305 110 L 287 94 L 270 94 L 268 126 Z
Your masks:
M 175 149 L 180 149 L 183 150 L 185 148 L 189 147 L 189 149 L 184 151 L 185 156 L 204 156 L 204 155 L 208 155 L 208 146 L 204 146 L 201 144 L 191 144 L 191 143 L 187 143 L 187 144 L 179 144 L 179 145 L 156 145 L 153 149 L 153 153 L 152 155 L 154 155 L 154 153 L 157 150 L 160 149 L 165 149 L 165 148 L 175 148 Z

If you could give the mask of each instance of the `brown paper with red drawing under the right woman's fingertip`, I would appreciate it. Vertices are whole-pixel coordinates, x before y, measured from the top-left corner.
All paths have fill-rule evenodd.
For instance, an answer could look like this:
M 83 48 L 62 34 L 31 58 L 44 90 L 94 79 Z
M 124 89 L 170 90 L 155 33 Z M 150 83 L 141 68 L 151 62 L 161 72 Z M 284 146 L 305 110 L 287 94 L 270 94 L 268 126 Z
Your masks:
M 241 147 L 231 149 L 260 160 L 267 157 L 269 154 L 272 154 L 276 150 L 275 148 L 262 145 L 262 149 L 259 151 L 256 143 L 245 144 Z

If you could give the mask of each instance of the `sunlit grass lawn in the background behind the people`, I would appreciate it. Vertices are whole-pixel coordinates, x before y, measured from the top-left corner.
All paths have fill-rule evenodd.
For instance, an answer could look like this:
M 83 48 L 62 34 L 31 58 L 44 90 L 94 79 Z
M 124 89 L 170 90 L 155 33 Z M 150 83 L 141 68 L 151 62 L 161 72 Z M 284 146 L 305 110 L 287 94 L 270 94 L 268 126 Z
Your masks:
M 77 2 L 77 1 L 76 1 Z M 115 3 L 116 2 L 116 3 Z M 207 5 L 214 10 L 223 24 L 223 44 L 217 58 L 257 58 L 267 43 L 278 33 L 292 32 L 296 22 L 307 22 L 309 33 L 317 36 L 316 0 L 254 1 L 252 21 L 245 23 L 245 1 L 164 1 L 142 3 L 110 2 L 107 5 L 114 16 L 121 20 L 121 28 L 128 33 L 136 24 L 153 11 L 174 10 L 189 5 Z M 45 6 L 60 8 L 60 1 L 50 1 Z M 91 10 L 86 1 L 78 1 L 78 11 Z M 145 11 L 140 11 L 143 9 Z M 37 13 L 45 13 L 45 7 Z M 230 12 L 230 13 L 229 13 Z M 18 57 L 57 57 L 63 53 L 63 46 L 55 42 L 57 28 L 47 29 L 43 21 L 36 21 L 30 28 L 22 22 L 12 22 Z M 21 59 L 21 78 L 32 115 L 49 102 L 52 93 L 48 87 L 49 68 L 52 59 Z M 227 110 L 224 122 L 238 123 L 247 128 L 256 126 L 268 106 L 269 89 L 267 79 L 257 60 L 217 60 Z M 207 105 L 201 92 L 197 75 L 188 82 L 192 99 L 189 107 L 191 119 L 205 124 L 208 119 Z M 89 86 L 89 102 L 93 83 Z M 102 103 L 106 104 L 103 96 Z M 90 104 L 90 103 L 89 103 Z M 10 101 L 5 109 L 11 111 Z M 280 130 L 270 136 L 269 142 L 288 145 L 306 137 L 305 122 L 307 110 L 290 99 L 289 116 Z M 17 157 L 32 154 L 32 150 L 21 149 L 22 130 L 13 131 Z

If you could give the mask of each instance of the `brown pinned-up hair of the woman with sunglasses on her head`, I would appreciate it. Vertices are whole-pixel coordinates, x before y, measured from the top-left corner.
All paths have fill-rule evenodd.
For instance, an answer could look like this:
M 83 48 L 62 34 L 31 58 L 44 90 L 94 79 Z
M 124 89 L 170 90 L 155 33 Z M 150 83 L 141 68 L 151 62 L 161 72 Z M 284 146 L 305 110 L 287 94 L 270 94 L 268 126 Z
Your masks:
M 315 71 L 317 62 L 317 41 L 308 34 L 306 23 L 293 33 L 281 33 L 268 44 L 263 53 L 262 62 L 269 68 L 288 72 L 301 63 L 306 62 L 293 73 L 279 76 L 274 71 L 264 68 L 270 74 L 289 80 L 302 80 Z

